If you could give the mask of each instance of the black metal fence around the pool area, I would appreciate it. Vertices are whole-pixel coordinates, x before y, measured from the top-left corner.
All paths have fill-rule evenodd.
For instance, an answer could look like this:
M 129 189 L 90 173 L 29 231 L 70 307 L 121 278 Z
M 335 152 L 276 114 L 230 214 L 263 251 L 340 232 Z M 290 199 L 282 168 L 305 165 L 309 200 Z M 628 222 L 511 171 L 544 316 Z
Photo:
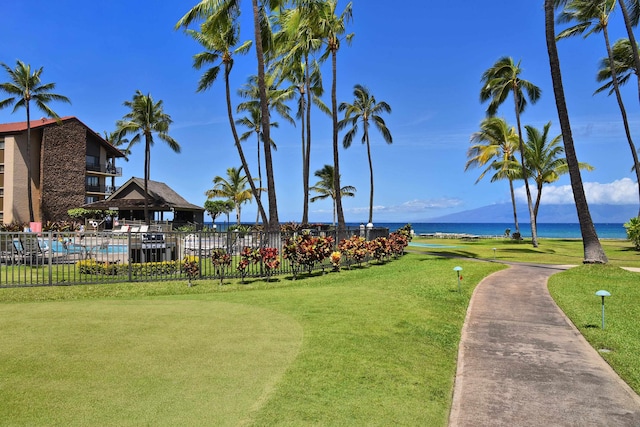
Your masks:
M 334 245 L 352 235 L 369 240 L 389 234 L 389 230 L 348 229 L 340 235 L 334 230 L 305 230 L 333 238 Z M 0 287 L 46 286 L 90 283 L 146 282 L 188 280 L 184 260 L 198 264 L 195 278 L 265 277 L 262 261 L 244 269 L 241 252 L 275 248 L 279 266 L 272 275 L 293 273 L 283 258 L 283 245 L 294 233 L 265 232 L 42 232 L 0 233 Z M 230 264 L 216 266 L 211 261 L 214 251 L 223 250 Z M 327 259 L 314 269 L 330 267 Z

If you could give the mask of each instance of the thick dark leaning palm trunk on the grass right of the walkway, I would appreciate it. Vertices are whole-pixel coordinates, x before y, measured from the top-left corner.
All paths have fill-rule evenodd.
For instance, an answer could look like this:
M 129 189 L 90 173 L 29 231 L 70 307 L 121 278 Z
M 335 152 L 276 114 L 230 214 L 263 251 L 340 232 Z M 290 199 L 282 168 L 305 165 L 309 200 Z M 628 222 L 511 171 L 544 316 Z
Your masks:
M 580 232 L 582 234 L 582 245 L 584 248 L 584 262 L 606 263 L 607 256 L 602 249 L 600 240 L 598 239 L 598 234 L 596 233 L 596 228 L 593 225 L 591 213 L 589 212 L 589 205 L 584 193 L 578 158 L 573 144 L 573 135 L 571 133 L 569 113 L 567 112 L 567 103 L 564 97 L 564 87 L 562 85 L 562 73 L 560 70 L 558 47 L 556 46 L 554 24 L 555 6 L 557 1 L 558 0 L 544 1 L 545 39 L 547 42 L 547 53 L 549 55 L 551 80 L 553 82 L 553 93 L 556 99 L 556 109 L 558 110 L 558 119 L 560 121 L 560 128 L 562 129 L 562 141 L 567 158 L 567 166 L 569 168 L 571 188 L 573 190 L 573 199 L 576 204 L 578 221 L 580 222 Z

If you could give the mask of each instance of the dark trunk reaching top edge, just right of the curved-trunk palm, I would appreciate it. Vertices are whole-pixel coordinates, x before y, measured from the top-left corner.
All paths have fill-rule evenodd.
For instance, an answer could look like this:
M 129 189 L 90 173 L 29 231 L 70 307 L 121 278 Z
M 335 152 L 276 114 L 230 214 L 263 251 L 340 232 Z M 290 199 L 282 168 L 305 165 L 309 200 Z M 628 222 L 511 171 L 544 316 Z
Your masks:
M 276 200 L 276 185 L 273 177 L 273 160 L 271 158 L 271 132 L 269 129 L 269 105 L 267 104 L 267 87 L 264 80 L 264 52 L 262 50 L 262 35 L 260 33 L 260 11 L 258 0 L 251 0 L 253 5 L 253 31 L 256 41 L 256 56 L 258 58 L 258 91 L 260 93 L 260 111 L 262 112 L 262 135 L 264 137 L 264 163 L 267 173 L 267 198 L 269 199 L 269 231 L 280 231 L 278 220 L 278 204 Z

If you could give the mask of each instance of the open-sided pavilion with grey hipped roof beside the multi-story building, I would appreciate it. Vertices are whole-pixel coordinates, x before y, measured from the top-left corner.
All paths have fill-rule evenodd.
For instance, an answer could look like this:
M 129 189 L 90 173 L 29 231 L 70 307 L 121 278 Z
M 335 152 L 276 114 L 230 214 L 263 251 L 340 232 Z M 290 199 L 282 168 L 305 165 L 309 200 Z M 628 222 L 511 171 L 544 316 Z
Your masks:
M 204 208 L 187 202 L 164 182 L 148 181 L 149 217 L 164 221 L 165 212 L 173 213 L 173 225 L 204 222 Z M 85 209 L 118 211 L 121 220 L 144 221 L 144 179 L 132 177 L 107 199 L 88 203 Z

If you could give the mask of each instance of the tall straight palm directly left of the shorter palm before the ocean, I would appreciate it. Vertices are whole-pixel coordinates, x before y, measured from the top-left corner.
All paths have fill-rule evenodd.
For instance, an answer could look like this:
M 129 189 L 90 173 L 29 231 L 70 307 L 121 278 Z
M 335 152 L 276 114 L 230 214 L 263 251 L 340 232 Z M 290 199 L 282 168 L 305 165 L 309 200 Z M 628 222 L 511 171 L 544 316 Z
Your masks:
M 342 41 L 351 43 L 353 33 L 346 34 L 347 24 L 353 16 L 352 4 L 347 3 L 344 10 L 340 15 L 336 14 L 336 8 L 338 5 L 337 0 L 327 0 L 321 4 L 317 14 L 313 17 L 313 25 L 319 31 L 323 43 L 326 46 L 326 50 L 322 55 L 322 59 L 331 57 L 331 118 L 333 128 L 333 168 L 334 168 L 334 188 L 342 188 L 340 186 L 340 153 L 338 150 L 338 98 L 337 98 L 337 57 L 338 50 Z M 342 209 L 342 195 L 339 191 L 336 191 L 336 215 L 338 217 L 338 231 L 342 231 L 346 228 L 344 221 L 344 211 Z

